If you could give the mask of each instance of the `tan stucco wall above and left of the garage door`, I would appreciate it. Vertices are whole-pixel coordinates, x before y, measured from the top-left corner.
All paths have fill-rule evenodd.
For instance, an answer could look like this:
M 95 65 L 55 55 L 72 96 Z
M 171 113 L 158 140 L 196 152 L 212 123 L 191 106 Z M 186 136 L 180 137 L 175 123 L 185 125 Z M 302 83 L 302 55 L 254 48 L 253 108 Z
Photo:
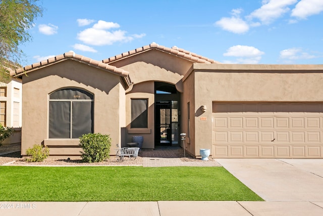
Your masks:
M 195 111 L 207 107 L 195 116 L 196 155 L 212 147 L 212 102 L 323 101 L 323 66 L 195 64 L 192 71 Z

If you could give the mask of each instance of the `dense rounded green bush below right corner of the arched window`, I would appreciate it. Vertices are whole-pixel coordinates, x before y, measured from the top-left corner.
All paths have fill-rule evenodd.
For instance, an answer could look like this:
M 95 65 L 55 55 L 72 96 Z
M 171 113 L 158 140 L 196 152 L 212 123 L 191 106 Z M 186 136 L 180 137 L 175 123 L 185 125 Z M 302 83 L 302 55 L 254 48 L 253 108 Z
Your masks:
M 84 162 L 101 162 L 110 157 L 110 135 L 84 134 L 80 138 L 82 159 Z

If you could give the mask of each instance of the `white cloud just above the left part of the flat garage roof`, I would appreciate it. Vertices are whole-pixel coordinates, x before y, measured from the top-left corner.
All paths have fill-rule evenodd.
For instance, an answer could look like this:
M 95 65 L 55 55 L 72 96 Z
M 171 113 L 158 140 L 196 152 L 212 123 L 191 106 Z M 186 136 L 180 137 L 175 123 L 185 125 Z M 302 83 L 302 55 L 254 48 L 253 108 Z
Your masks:
M 234 63 L 239 64 L 257 64 L 261 60 L 261 56 L 264 54 L 264 52 L 258 50 L 257 48 L 250 47 L 250 46 L 242 46 L 242 45 L 236 45 L 233 47 L 230 47 L 226 53 L 224 53 L 224 56 L 228 57 L 239 57 L 237 58 Z M 231 62 L 232 61 L 224 61 L 224 62 Z

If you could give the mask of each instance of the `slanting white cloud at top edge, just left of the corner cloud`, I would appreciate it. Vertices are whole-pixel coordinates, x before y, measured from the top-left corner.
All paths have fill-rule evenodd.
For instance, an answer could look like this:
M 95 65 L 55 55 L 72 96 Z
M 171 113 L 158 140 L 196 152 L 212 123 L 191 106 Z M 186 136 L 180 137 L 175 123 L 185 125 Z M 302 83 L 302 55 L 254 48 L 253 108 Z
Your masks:
M 318 0 L 321 1 L 321 0 Z M 259 19 L 262 24 L 270 24 L 274 20 L 281 17 L 283 14 L 290 11 L 288 6 L 297 3 L 297 0 L 267 0 L 262 1 L 261 8 L 253 11 L 249 16 L 248 19 L 257 18 Z

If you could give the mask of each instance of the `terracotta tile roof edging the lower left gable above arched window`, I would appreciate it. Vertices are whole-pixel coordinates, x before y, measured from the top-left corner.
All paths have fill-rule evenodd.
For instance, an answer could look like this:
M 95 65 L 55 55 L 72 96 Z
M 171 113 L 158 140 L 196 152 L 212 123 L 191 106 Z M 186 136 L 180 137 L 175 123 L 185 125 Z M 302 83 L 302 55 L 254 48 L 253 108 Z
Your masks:
M 66 60 L 74 60 L 74 61 L 81 62 L 83 64 L 90 65 L 92 67 L 96 67 L 96 68 L 100 68 L 100 69 L 103 69 L 103 70 L 110 71 L 112 73 L 115 73 L 115 74 L 121 76 L 123 78 L 124 83 L 128 87 L 132 84 L 131 79 L 129 77 L 129 72 L 128 71 L 125 71 L 125 70 L 123 70 L 121 68 L 117 68 L 115 66 L 112 66 L 112 65 L 109 65 L 109 64 L 106 64 L 106 63 L 103 63 L 102 61 L 96 61 L 96 60 L 87 58 L 85 56 L 77 55 L 74 52 L 67 52 L 67 53 L 64 53 L 62 55 L 58 55 L 58 56 L 49 58 L 49 59 L 41 61 L 41 62 L 37 62 L 37 63 L 31 64 L 31 65 L 27 65 L 25 67 L 18 68 L 16 70 L 11 70 L 10 75 L 15 76 L 15 77 L 21 77 L 22 75 L 24 75 L 24 74 L 26 74 L 28 72 L 37 70 L 37 69 L 42 68 L 42 67 L 46 67 L 46 66 L 51 65 L 53 63 L 57 63 L 57 62 L 60 62 L 60 61 L 66 61 Z

